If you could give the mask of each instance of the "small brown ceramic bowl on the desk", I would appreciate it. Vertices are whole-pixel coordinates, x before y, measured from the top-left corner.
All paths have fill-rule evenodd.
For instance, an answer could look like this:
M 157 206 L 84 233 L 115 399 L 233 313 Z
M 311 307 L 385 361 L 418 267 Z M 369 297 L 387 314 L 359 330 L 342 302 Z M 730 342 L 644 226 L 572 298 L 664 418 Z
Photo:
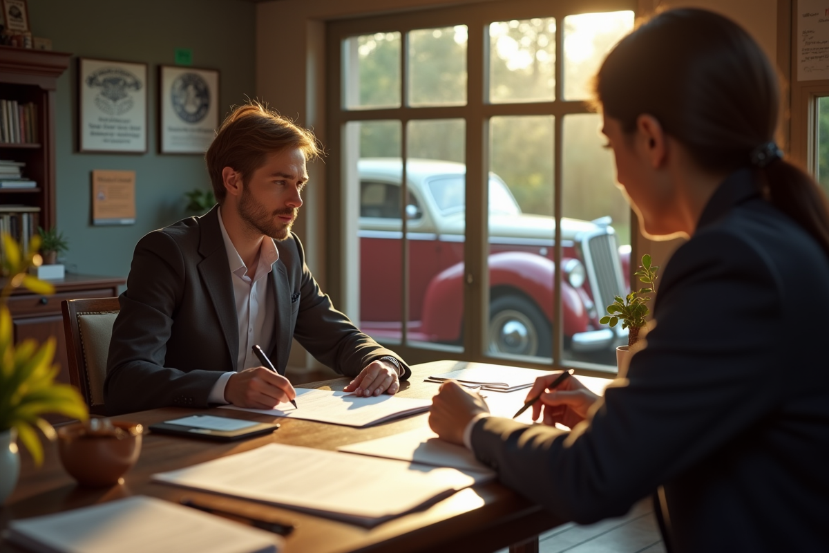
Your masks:
M 141 424 L 112 421 L 107 430 L 75 423 L 57 430 L 61 463 L 82 486 L 114 486 L 138 460 Z

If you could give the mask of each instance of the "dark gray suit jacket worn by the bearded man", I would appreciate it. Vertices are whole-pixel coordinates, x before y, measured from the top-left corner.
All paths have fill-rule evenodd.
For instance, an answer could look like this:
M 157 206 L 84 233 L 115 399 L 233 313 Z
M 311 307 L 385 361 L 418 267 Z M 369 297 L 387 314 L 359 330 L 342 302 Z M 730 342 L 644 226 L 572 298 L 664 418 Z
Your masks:
M 394 352 L 380 347 L 333 308 L 305 264 L 296 235 L 276 242 L 269 274 L 276 299 L 271 348 L 280 374 L 295 337 L 338 373 L 356 376 Z M 218 209 L 153 230 L 138 241 L 109 345 L 104 401 L 110 414 L 171 405 L 207 407 L 239 351 L 233 285 Z M 405 367 L 405 375 L 410 369 Z

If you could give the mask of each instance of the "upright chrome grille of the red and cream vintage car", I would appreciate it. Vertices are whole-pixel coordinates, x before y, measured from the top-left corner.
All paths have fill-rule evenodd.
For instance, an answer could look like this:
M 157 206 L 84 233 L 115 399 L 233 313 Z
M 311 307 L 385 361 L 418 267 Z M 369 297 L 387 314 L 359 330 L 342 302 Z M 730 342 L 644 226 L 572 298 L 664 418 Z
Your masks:
M 607 230 L 585 237 L 582 242 L 584 266 L 599 315 L 604 316 L 615 296 L 624 296 L 622 264 L 619 261 L 616 235 Z

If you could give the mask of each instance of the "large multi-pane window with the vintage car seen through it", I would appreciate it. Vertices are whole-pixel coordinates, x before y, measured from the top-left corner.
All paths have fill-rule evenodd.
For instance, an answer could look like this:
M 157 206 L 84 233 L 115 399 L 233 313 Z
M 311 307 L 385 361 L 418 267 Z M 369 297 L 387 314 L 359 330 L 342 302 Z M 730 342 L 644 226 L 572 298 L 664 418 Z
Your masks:
M 627 293 L 630 216 L 589 99 L 635 4 L 328 26 L 332 265 L 364 332 L 413 362 L 615 370 L 626 336 L 599 318 Z

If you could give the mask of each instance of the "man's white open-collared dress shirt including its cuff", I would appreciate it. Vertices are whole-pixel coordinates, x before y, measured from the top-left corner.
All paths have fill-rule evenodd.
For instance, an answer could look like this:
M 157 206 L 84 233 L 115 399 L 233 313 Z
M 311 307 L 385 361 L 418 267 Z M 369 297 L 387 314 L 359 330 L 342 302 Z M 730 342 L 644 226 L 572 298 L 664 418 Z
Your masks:
M 268 275 L 279 260 L 279 250 L 274 240 L 265 236 L 259 249 L 259 264 L 255 270 L 245 266 L 239 252 L 236 251 L 230 236 L 225 230 L 225 223 L 221 220 L 219 208 L 219 228 L 221 237 L 225 240 L 227 262 L 230 264 L 230 280 L 233 283 L 233 295 L 236 303 L 236 321 L 239 323 L 239 352 L 236 356 L 236 366 L 233 371 L 225 372 L 213 385 L 207 400 L 211 403 L 228 403 L 225 400 L 225 386 L 230 376 L 237 371 L 250 369 L 261 365 L 251 347 L 259 344 L 267 352 L 274 335 L 274 317 L 276 301 L 273 294 L 268 293 Z M 252 276 L 251 276 L 252 274 Z

